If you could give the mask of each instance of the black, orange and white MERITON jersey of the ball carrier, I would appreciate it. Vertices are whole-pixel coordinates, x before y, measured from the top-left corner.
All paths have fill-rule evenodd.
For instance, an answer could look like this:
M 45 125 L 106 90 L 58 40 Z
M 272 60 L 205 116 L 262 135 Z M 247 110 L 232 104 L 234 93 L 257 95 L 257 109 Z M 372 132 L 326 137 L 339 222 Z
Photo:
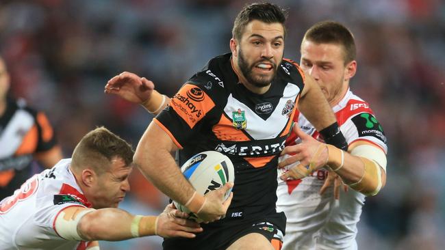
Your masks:
M 181 149 L 179 165 L 206 150 L 229 156 L 235 186 L 227 217 L 275 212 L 277 155 L 290 133 L 303 82 L 298 66 L 283 59 L 270 89 L 254 94 L 239 83 L 229 53 L 211 59 L 155 118 Z

